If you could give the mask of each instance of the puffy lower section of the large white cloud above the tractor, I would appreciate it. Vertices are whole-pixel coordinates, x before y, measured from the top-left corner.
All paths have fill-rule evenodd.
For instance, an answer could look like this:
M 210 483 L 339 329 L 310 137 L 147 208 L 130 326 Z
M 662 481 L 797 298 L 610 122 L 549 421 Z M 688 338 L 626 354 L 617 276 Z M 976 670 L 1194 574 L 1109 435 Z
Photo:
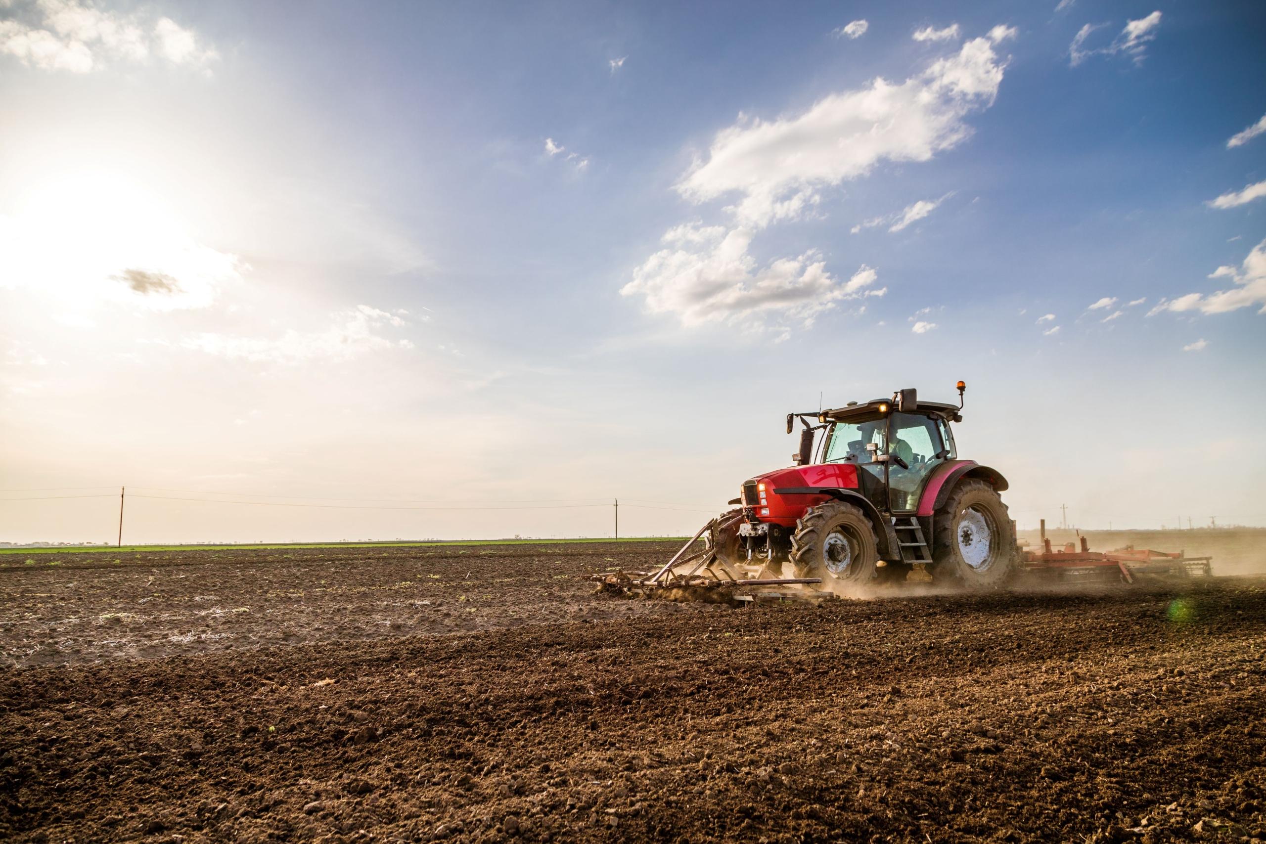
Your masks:
M 766 315 L 810 325 L 836 302 L 881 296 L 874 268 L 862 266 L 847 281 L 827 272 L 815 252 L 758 266 L 748 254 L 752 230 L 679 225 L 662 238 L 667 248 L 633 271 L 624 296 L 641 295 L 653 314 L 675 314 L 684 325 L 710 321 L 756 324 Z

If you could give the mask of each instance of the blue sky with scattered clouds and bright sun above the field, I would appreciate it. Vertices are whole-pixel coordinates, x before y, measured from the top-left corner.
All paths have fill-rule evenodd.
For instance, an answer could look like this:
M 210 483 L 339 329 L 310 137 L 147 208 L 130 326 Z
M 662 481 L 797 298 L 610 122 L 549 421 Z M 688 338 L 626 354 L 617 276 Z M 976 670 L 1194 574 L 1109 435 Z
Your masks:
M 0 542 L 693 533 L 967 382 L 1266 525 L 1266 6 L 0 0 Z

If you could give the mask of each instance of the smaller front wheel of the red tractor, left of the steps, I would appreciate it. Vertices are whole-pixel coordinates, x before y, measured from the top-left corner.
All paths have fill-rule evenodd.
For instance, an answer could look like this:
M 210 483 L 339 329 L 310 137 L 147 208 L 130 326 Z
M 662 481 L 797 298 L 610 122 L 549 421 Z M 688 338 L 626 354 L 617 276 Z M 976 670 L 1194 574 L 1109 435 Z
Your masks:
M 875 580 L 879 540 L 866 514 L 843 501 L 805 512 L 791 535 L 796 577 L 820 577 L 824 588 L 865 586 Z

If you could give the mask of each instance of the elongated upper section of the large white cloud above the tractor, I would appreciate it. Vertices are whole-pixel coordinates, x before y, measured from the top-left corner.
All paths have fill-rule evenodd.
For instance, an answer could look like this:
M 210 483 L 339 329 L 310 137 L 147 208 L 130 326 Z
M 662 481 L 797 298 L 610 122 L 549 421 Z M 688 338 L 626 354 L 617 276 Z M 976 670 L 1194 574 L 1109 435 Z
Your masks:
M 798 218 L 820 200 L 823 186 L 865 176 L 884 161 L 928 161 L 961 143 L 971 134 L 965 119 L 994 102 L 1004 68 L 993 42 L 976 38 L 899 85 L 876 78 L 796 116 L 741 115 L 676 187 L 695 202 L 738 194 L 732 210 L 744 225 Z

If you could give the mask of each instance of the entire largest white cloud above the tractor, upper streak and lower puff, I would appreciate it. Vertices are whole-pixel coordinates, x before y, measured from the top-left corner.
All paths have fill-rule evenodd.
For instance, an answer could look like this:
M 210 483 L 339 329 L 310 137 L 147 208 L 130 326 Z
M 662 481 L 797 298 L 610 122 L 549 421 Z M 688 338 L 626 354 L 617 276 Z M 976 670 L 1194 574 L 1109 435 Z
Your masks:
M 817 251 L 762 266 L 749 254 L 751 242 L 771 223 L 813 209 L 823 186 L 863 176 L 885 159 L 928 161 L 961 142 L 971 133 L 965 118 L 993 104 L 1004 67 L 993 43 L 976 38 L 900 85 L 876 78 L 770 121 L 739 115 L 676 185 L 694 202 L 737 194 L 725 209 L 732 224 L 668 229 L 667 248 L 647 258 L 620 292 L 642 296 L 651 313 L 675 314 L 684 325 L 751 326 L 771 319 L 809 325 L 839 301 L 882 296 L 887 289 L 872 287 L 870 267 L 841 283 Z

